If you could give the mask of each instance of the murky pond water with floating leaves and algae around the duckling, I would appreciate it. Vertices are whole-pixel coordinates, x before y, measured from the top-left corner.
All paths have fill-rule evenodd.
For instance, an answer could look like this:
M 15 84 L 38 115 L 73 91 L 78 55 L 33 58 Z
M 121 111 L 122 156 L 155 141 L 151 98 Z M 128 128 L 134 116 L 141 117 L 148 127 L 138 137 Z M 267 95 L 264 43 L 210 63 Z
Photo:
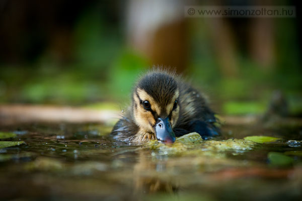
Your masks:
M 302 198 L 301 125 L 226 125 L 219 138 L 202 141 L 191 134 L 172 146 L 117 143 L 108 136 L 111 128 L 1 126 L 2 134 L 13 136 L 0 141 L 25 142 L 6 148 L 0 144 L 1 199 Z M 259 135 L 278 139 L 244 140 Z

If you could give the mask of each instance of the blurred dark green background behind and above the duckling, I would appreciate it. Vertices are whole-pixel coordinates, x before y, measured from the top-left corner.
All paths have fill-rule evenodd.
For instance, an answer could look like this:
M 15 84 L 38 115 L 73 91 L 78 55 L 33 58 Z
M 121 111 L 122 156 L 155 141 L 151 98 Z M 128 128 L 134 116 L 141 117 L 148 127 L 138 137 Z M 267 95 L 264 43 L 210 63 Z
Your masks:
M 164 65 L 218 113 L 262 113 L 280 90 L 301 116 L 299 8 L 295 18 L 185 18 L 187 5 L 203 2 L 2 1 L 0 103 L 119 109 L 139 73 Z

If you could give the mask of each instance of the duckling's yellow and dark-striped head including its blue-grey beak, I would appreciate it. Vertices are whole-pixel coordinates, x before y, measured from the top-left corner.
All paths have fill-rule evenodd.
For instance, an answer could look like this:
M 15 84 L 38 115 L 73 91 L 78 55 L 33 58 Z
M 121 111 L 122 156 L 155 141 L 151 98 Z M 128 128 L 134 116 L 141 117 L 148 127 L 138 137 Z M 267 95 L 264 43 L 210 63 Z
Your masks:
M 179 117 L 179 88 L 173 73 L 155 71 L 143 76 L 133 90 L 136 125 L 165 143 L 175 142 L 172 128 Z

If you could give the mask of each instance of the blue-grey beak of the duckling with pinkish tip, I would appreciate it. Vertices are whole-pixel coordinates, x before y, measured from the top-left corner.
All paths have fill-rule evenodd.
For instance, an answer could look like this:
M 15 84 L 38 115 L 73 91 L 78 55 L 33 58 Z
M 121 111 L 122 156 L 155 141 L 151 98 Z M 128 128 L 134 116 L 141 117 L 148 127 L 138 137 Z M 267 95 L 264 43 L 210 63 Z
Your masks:
M 156 138 L 165 144 L 172 144 L 176 137 L 172 130 L 169 118 L 158 118 L 156 125 L 153 127 Z

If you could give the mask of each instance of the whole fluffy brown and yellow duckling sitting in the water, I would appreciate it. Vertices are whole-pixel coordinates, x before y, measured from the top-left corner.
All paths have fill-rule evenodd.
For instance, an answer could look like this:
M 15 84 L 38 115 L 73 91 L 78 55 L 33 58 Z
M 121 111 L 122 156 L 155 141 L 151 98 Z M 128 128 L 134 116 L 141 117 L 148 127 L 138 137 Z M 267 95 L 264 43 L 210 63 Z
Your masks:
M 216 122 L 202 93 L 175 72 L 153 69 L 133 87 L 132 104 L 111 135 L 131 144 L 149 140 L 172 144 L 176 137 L 191 132 L 199 133 L 203 139 L 217 136 Z

